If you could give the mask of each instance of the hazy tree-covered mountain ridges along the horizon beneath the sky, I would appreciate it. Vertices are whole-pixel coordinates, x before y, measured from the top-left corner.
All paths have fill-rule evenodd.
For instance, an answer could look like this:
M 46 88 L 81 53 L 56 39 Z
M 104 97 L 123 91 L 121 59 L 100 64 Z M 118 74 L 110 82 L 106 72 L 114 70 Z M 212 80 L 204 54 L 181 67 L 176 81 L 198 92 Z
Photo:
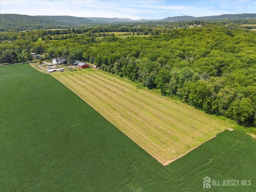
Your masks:
M 224 20 L 256 18 L 256 14 L 224 14 L 219 16 L 192 17 L 176 16 L 161 20 L 129 18 L 101 18 L 101 17 L 74 17 L 74 16 L 28 16 L 20 14 L 0 14 L 0 31 L 8 30 L 33 30 L 72 28 L 96 23 L 124 23 L 124 22 L 178 22 L 191 20 Z

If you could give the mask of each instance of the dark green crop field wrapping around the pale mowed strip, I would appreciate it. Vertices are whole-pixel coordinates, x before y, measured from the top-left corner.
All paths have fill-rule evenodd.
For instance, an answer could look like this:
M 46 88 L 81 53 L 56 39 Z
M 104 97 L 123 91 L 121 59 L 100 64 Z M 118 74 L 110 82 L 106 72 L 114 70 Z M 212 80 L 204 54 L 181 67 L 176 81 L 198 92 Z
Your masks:
M 162 166 L 29 64 L 0 66 L 0 86 L 1 192 L 256 191 L 256 140 L 245 132 L 225 130 Z M 205 176 L 247 186 L 204 189 Z

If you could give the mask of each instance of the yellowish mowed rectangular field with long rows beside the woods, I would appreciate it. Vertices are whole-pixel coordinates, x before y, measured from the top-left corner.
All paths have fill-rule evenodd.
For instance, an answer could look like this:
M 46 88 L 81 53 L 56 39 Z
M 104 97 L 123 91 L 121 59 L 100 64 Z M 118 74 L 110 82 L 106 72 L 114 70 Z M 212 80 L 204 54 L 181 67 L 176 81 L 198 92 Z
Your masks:
M 227 121 L 99 70 L 52 74 L 166 165 L 232 127 Z

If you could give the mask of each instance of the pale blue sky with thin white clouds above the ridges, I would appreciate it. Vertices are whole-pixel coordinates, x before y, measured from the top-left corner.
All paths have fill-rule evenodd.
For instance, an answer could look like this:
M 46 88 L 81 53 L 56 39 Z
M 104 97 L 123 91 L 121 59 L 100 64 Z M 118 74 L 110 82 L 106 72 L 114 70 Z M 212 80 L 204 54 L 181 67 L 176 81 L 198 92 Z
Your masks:
M 0 13 L 163 19 L 256 13 L 256 0 L 0 0 Z

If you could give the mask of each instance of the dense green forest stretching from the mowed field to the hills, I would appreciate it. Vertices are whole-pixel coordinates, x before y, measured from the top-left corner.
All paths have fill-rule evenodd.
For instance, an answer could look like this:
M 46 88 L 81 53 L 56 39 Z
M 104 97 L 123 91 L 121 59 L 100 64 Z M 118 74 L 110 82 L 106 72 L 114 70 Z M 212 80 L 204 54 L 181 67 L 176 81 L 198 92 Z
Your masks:
M 1 32 L 0 62 L 28 61 L 30 52 L 44 54 L 44 59 L 66 56 L 69 62 L 90 62 L 210 114 L 255 127 L 256 32 L 240 22 L 177 22 L 172 29 L 149 22 L 137 27 Z M 115 31 L 137 35 L 97 37 Z

